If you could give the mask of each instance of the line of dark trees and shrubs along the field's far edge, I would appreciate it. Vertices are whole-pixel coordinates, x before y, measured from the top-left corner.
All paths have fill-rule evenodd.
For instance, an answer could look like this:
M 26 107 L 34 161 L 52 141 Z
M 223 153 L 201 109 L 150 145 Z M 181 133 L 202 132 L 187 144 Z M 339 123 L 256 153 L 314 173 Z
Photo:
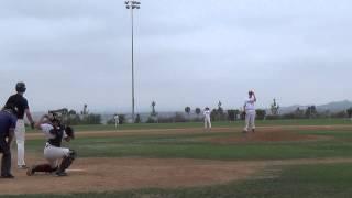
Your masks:
M 147 120 L 143 121 L 141 114 L 136 114 L 134 123 L 168 123 L 168 122 L 201 122 L 204 121 L 202 109 L 199 107 L 191 108 L 185 107 L 184 113 L 176 112 L 172 117 L 160 117 L 156 111 L 156 102 L 153 101 L 151 103 L 152 110 L 147 118 Z M 65 109 L 65 108 L 64 108 Z M 194 113 L 196 117 L 191 117 Z M 222 107 L 222 102 L 218 102 L 217 108 L 211 109 L 210 118 L 212 121 L 239 121 L 244 120 L 245 112 L 242 109 L 229 109 L 224 110 Z M 327 111 L 318 111 L 316 106 L 308 106 L 306 108 L 297 108 L 293 112 L 288 113 L 279 113 L 279 105 L 274 99 L 271 108 L 268 110 L 257 109 L 256 110 L 256 120 L 278 120 L 278 119 L 310 119 L 310 118 L 351 118 L 352 119 L 352 107 L 340 112 L 330 112 Z M 77 124 L 100 124 L 102 119 L 99 113 L 90 113 L 88 111 L 88 106 L 85 105 L 84 109 L 80 112 L 75 110 L 64 111 L 63 120 L 72 125 Z M 108 124 L 114 123 L 116 120 L 113 118 L 107 121 Z M 127 123 L 127 116 L 119 114 L 119 123 Z

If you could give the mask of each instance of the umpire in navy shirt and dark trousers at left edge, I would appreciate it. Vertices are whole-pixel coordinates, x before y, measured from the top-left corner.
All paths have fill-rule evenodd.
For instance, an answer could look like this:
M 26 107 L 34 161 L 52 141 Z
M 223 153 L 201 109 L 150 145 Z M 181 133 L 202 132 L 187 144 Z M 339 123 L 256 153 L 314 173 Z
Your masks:
M 14 135 L 16 118 L 13 105 L 7 105 L 0 111 L 0 153 L 1 160 L 1 178 L 14 178 L 11 174 L 11 142 Z

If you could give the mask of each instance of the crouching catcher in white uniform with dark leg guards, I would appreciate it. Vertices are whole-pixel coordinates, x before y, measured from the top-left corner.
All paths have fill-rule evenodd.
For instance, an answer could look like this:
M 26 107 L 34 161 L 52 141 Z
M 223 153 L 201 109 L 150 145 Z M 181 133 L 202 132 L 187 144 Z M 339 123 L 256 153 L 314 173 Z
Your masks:
M 64 127 L 59 118 L 55 114 L 44 114 L 35 124 L 41 130 L 47 142 L 44 147 L 44 157 L 48 163 L 31 166 L 26 175 L 32 176 L 35 173 L 55 173 L 57 176 L 67 176 L 65 172 L 76 158 L 74 150 L 62 147 L 62 142 L 69 142 L 75 139 L 74 129 Z

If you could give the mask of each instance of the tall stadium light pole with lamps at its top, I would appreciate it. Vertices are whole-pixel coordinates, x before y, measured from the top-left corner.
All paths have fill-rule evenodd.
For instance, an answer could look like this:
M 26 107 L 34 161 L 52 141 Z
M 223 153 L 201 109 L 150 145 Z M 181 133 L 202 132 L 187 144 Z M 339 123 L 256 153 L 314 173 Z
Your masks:
M 134 24 L 133 24 L 133 10 L 134 9 L 140 9 L 141 8 L 141 2 L 140 1 L 124 1 L 125 8 L 131 10 L 131 25 L 132 25 L 132 122 L 134 123 Z

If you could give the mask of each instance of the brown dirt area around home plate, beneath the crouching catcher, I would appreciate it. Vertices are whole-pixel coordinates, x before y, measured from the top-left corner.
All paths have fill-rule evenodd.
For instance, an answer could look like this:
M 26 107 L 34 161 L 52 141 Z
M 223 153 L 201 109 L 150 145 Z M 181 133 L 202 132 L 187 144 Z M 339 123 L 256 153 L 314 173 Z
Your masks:
M 31 162 L 35 158 L 31 158 Z M 261 177 L 265 168 L 277 165 L 352 163 L 352 158 L 290 161 L 202 161 L 161 158 L 80 158 L 67 177 L 26 176 L 14 170 L 15 179 L 0 179 L 1 194 L 67 194 L 139 188 L 176 188 L 226 184 Z M 273 175 L 264 175 L 272 177 Z

